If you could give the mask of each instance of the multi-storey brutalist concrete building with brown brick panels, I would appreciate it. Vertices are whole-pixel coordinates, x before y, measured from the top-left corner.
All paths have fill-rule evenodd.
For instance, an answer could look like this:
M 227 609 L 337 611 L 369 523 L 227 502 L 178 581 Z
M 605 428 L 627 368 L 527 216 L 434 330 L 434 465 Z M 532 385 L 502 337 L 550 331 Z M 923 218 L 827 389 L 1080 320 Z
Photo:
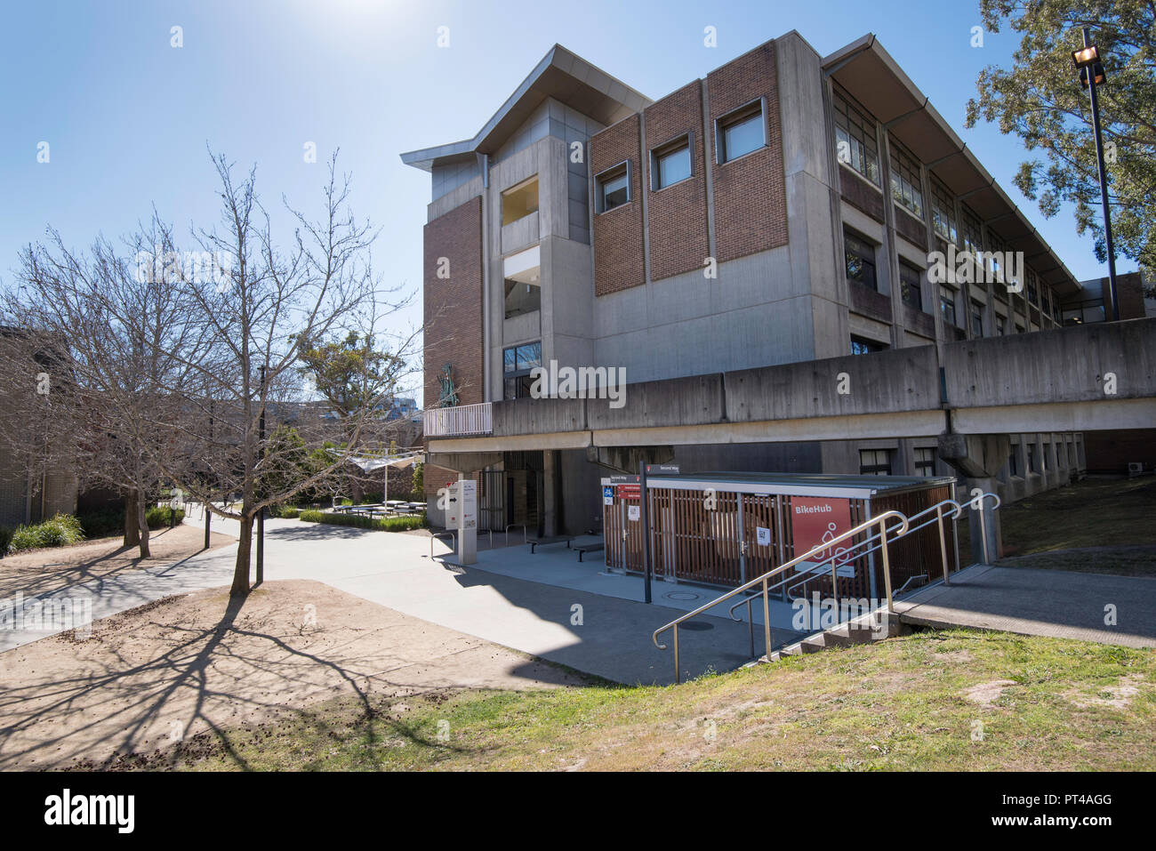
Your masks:
M 1080 284 L 872 35 L 823 57 L 792 31 L 657 101 L 555 45 L 474 136 L 402 161 L 432 186 L 435 523 L 459 473 L 483 526 L 551 534 L 639 460 L 1006 498 L 1083 466 L 1077 419 L 1013 412 L 1036 379 L 977 401 L 965 375 L 1061 345 L 1030 341 L 1069 333 Z M 535 393 L 538 367 L 595 398 Z

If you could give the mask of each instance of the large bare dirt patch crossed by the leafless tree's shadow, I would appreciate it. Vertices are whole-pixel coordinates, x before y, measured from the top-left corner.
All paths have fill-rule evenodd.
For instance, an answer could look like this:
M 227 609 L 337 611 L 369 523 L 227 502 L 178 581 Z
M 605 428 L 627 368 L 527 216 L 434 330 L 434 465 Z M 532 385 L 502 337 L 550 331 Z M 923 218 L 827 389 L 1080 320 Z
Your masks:
M 267 583 L 243 605 L 209 589 L 0 653 L 0 769 L 104 764 L 331 697 L 581 682 L 321 583 Z

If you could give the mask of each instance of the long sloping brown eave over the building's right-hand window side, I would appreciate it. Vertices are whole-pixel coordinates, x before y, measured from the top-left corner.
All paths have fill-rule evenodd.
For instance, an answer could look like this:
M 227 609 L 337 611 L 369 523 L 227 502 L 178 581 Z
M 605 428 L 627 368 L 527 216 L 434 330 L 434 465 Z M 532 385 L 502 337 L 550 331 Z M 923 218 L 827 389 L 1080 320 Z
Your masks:
M 1036 274 L 1060 296 L 1079 291 L 1075 275 L 874 34 L 825 57 L 823 69 L 990 223 L 1011 251 L 1022 251 Z

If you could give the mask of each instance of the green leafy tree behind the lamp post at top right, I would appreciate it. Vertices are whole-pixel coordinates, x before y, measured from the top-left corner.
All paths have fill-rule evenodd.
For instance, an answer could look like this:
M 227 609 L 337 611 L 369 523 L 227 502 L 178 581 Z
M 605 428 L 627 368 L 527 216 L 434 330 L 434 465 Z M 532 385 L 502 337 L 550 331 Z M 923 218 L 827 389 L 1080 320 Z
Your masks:
M 984 25 L 1021 35 L 1010 68 L 979 74 L 968 103 L 968 127 L 983 118 L 1018 135 L 1043 158 L 1020 165 L 1015 184 L 1048 219 L 1075 208 L 1080 234 L 1090 230 L 1106 261 L 1099 176 L 1088 91 L 1072 51 L 1091 28 L 1107 73 L 1097 88 L 1109 206 L 1116 250 L 1156 273 L 1156 3 L 1150 0 L 980 0 Z

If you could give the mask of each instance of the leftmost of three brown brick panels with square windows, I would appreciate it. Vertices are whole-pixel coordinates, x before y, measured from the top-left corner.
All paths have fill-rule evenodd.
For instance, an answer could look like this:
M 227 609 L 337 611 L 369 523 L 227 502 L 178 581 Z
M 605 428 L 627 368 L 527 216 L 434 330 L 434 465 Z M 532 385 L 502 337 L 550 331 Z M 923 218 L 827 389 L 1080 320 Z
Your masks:
M 590 140 L 591 175 L 630 161 L 631 200 L 608 213 L 594 213 L 594 295 L 638 287 L 646 282 L 643 258 L 640 121 L 637 114 L 595 133 Z M 591 185 L 598 191 L 596 182 Z

